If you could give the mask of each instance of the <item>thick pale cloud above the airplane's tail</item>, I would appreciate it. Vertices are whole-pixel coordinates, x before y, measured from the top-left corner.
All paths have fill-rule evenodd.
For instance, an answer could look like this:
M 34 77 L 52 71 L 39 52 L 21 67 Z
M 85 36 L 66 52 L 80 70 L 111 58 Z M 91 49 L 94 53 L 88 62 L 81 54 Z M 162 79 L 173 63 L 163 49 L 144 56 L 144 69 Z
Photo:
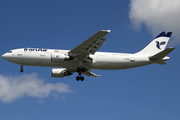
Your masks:
M 131 0 L 129 18 L 135 29 L 145 25 L 155 36 L 172 31 L 174 44 L 180 43 L 180 0 Z

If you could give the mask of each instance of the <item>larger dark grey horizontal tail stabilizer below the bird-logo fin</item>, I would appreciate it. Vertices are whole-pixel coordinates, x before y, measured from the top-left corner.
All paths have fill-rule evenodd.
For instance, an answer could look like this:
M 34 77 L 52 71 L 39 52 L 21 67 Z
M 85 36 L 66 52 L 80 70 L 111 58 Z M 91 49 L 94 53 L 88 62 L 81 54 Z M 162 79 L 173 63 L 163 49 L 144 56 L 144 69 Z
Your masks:
M 173 51 L 175 48 L 167 48 L 157 54 L 155 54 L 154 56 L 150 57 L 149 59 L 151 61 L 155 61 L 155 60 L 158 60 L 158 59 L 162 59 L 164 57 L 166 57 L 171 51 Z

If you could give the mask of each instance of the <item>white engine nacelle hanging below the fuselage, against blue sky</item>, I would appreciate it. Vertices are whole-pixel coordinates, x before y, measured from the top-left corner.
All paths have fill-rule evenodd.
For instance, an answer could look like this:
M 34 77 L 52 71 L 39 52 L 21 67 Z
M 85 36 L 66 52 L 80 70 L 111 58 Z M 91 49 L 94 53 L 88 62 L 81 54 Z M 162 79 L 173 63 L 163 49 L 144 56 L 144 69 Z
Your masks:
M 72 75 L 71 72 L 67 71 L 65 68 L 52 69 L 51 71 L 52 77 L 64 77 Z

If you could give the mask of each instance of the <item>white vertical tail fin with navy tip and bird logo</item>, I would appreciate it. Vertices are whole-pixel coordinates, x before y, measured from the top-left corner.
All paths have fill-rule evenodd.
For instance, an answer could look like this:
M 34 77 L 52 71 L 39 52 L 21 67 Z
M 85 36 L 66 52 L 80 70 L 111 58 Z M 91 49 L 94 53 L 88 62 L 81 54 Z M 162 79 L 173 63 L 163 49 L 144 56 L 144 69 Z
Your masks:
M 166 48 L 172 32 L 162 32 L 144 49 L 136 54 L 157 54 Z

